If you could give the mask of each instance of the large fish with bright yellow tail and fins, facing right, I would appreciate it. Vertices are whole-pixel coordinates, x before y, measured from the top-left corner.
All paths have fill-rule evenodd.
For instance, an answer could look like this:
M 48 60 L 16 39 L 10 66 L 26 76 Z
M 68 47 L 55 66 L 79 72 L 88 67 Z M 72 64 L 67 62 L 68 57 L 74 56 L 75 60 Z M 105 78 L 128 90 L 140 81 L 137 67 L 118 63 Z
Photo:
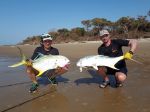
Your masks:
M 21 49 L 19 48 L 20 52 Z M 27 65 L 27 61 L 23 53 L 22 55 L 22 61 L 16 64 L 13 64 L 9 67 L 18 67 L 21 65 Z M 62 55 L 42 55 L 39 58 L 33 60 L 32 67 L 37 70 L 39 73 L 37 76 L 42 75 L 47 70 L 56 69 L 58 67 L 67 67 L 70 64 L 70 60 Z

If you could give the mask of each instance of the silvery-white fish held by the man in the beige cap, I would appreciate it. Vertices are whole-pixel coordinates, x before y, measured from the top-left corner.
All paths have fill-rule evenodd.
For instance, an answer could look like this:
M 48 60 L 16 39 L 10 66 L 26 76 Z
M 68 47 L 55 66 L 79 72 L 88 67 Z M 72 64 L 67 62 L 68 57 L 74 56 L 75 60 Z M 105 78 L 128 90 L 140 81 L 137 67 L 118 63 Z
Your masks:
M 106 66 L 113 69 L 118 70 L 115 67 L 115 64 L 123 60 L 124 56 L 119 57 L 108 57 L 103 55 L 93 55 L 93 56 L 85 56 L 77 62 L 77 66 L 80 67 L 80 72 L 82 72 L 82 68 L 93 67 L 94 69 L 98 70 L 98 66 Z

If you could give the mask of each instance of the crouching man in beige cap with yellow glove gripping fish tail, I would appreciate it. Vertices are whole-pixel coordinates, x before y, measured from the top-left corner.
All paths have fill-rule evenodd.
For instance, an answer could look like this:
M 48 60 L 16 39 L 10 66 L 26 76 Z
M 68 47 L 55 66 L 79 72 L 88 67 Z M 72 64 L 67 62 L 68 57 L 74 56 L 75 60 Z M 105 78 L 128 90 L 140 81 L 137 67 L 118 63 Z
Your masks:
M 137 42 L 135 39 L 111 39 L 111 35 L 109 34 L 108 30 L 100 31 L 100 39 L 103 44 L 98 48 L 99 55 L 119 57 L 123 55 L 122 47 L 127 46 L 129 47 L 129 51 L 125 53 L 125 58 L 131 59 L 137 47 Z M 116 68 L 119 70 L 114 70 L 109 67 L 99 67 L 98 73 L 103 77 L 103 83 L 99 85 L 101 88 L 105 88 L 109 85 L 109 78 L 107 75 L 115 76 L 116 87 L 123 86 L 122 83 L 127 77 L 127 67 L 125 60 L 119 61 L 116 64 Z

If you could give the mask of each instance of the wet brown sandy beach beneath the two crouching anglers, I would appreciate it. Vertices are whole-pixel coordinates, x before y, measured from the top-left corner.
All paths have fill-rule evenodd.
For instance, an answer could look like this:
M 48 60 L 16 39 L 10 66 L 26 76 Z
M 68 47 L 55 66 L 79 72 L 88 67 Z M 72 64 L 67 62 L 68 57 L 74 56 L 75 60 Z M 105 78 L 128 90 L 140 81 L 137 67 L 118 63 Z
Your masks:
M 122 88 L 111 85 L 99 88 L 101 77 L 93 70 L 79 72 L 79 58 L 97 54 L 101 43 L 55 44 L 60 54 L 71 60 L 70 69 L 57 77 L 58 86 L 39 79 L 39 91 L 30 94 L 31 85 L 25 67 L 8 68 L 20 60 L 19 52 L 10 46 L 0 46 L 0 111 L 4 112 L 150 112 L 150 40 L 138 41 L 134 59 L 127 61 L 128 77 Z M 20 46 L 30 57 L 36 46 Z M 128 49 L 124 49 L 126 51 Z

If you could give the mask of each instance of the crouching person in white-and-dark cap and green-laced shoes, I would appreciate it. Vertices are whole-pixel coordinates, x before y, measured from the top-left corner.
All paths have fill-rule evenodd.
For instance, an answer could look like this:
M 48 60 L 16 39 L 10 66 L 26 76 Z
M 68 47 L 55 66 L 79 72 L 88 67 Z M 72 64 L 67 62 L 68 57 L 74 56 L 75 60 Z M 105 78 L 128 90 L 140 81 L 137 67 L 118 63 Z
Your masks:
M 51 46 L 52 45 L 52 40 L 53 40 L 53 38 L 52 38 L 51 35 L 42 34 L 42 36 L 41 36 L 41 46 L 37 47 L 34 50 L 34 53 L 31 57 L 31 59 L 28 61 L 27 73 L 29 74 L 29 77 L 30 77 L 31 81 L 33 82 L 32 86 L 30 88 L 30 92 L 34 92 L 38 88 L 38 82 L 37 82 L 37 79 L 36 79 L 36 75 L 38 73 L 34 68 L 32 68 L 32 66 L 30 66 L 32 64 L 32 60 L 35 60 L 35 59 L 39 58 L 41 54 L 42 55 L 49 55 L 49 54 L 59 55 L 58 49 Z M 55 75 L 55 71 L 56 70 L 50 71 L 47 75 L 51 76 L 52 72 Z M 57 73 L 60 73 L 60 74 L 63 74 L 65 72 L 66 72 L 66 70 L 63 70 L 63 69 L 57 70 Z M 55 77 L 50 78 L 50 80 L 52 81 L 53 84 L 57 84 Z

